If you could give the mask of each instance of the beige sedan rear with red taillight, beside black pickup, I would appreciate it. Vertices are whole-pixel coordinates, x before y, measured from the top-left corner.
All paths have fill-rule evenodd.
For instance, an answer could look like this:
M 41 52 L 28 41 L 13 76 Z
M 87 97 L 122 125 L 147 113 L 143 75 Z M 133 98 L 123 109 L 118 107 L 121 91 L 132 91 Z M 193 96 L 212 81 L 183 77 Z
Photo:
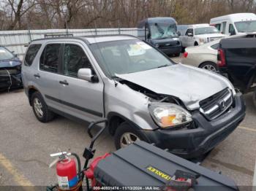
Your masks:
M 181 63 L 209 71 L 218 71 L 217 53 L 219 40 L 220 39 L 208 42 L 197 47 L 187 47 L 181 59 Z

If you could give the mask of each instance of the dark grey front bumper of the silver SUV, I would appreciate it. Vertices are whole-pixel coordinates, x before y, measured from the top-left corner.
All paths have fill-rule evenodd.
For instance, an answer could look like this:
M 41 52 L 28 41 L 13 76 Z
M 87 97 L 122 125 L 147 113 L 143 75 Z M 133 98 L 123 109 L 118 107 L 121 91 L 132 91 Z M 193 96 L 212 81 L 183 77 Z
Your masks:
M 195 129 L 145 131 L 157 147 L 169 149 L 175 155 L 192 158 L 204 155 L 235 130 L 245 117 L 241 93 L 235 95 L 236 106 L 216 120 L 208 121 L 200 112 L 192 114 Z

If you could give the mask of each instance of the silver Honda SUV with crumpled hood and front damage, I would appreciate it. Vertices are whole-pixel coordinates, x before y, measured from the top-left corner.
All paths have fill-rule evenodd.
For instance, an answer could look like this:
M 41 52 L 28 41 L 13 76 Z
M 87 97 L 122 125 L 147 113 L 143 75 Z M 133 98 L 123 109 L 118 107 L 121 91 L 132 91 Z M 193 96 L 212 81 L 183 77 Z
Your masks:
M 116 148 L 135 140 L 182 157 L 213 149 L 244 119 L 241 93 L 211 71 L 173 63 L 135 36 L 31 42 L 22 67 L 34 114 L 108 118 Z

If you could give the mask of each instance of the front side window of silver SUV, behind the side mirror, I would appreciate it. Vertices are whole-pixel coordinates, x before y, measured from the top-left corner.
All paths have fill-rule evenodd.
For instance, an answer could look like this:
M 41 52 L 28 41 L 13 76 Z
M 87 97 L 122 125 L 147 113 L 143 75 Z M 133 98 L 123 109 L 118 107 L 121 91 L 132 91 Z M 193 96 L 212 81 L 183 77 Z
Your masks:
M 91 63 L 83 49 L 75 44 L 65 44 L 63 55 L 64 75 L 78 77 L 79 69 L 92 69 Z

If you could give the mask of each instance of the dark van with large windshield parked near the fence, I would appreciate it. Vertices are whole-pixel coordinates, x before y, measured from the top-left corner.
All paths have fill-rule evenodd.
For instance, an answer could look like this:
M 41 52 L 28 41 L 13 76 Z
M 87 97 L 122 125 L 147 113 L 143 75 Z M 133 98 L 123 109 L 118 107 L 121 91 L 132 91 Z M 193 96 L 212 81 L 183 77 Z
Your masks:
M 178 39 L 177 22 L 173 17 L 151 17 L 141 20 L 138 23 L 138 36 L 166 55 L 180 55 L 181 41 Z

